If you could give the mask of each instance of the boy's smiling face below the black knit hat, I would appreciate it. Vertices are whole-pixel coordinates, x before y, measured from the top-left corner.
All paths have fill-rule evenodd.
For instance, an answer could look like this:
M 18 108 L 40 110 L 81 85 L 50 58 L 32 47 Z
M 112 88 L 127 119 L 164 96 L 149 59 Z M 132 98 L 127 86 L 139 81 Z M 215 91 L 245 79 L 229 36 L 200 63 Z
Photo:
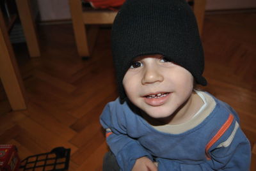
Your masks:
M 123 85 L 129 100 L 153 118 L 172 115 L 193 91 L 193 76 L 163 56 L 136 57 Z

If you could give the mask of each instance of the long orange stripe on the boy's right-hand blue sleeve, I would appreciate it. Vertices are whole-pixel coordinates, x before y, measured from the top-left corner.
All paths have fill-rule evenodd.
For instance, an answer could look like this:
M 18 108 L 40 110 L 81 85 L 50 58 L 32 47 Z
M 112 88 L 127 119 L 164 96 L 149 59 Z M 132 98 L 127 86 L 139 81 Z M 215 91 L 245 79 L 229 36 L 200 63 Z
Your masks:
M 207 160 L 211 160 L 211 156 L 208 153 L 208 150 L 211 148 L 211 146 L 220 139 L 220 137 L 227 131 L 229 126 L 232 124 L 232 121 L 234 119 L 234 116 L 232 114 L 229 114 L 227 121 L 221 126 L 220 130 L 214 135 L 214 137 L 210 140 L 210 142 L 205 147 L 205 154 Z

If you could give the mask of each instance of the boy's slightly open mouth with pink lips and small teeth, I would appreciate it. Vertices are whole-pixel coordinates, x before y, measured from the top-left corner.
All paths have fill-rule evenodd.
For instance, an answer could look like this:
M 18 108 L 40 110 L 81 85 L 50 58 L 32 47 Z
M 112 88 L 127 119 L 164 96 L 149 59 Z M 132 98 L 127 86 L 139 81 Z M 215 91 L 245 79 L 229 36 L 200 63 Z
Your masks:
M 152 107 L 157 107 L 163 105 L 166 100 L 168 100 L 170 93 L 152 93 L 144 96 L 145 103 Z

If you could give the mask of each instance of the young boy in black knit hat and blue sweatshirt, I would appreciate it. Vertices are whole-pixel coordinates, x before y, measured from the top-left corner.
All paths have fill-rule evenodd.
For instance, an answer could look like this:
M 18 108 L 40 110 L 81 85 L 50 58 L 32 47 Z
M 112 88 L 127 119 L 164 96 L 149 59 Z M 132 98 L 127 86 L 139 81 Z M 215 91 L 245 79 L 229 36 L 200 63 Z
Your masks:
M 105 170 L 249 170 L 250 142 L 236 112 L 194 89 L 207 82 L 186 1 L 127 0 L 112 48 L 120 97 L 100 116 L 114 154 Z

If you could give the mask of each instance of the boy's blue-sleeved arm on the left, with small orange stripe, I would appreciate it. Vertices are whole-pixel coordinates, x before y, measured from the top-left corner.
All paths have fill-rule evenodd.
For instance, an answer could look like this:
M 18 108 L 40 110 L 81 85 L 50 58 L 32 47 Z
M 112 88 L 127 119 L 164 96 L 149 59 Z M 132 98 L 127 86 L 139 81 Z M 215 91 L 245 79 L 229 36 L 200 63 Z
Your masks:
M 108 104 L 100 115 L 100 123 L 106 129 L 107 143 L 115 154 L 121 170 L 132 170 L 137 159 L 143 156 L 152 160 L 150 153 L 137 140 L 127 136 L 125 122 L 117 119 L 115 114 L 111 114 L 109 106 Z

